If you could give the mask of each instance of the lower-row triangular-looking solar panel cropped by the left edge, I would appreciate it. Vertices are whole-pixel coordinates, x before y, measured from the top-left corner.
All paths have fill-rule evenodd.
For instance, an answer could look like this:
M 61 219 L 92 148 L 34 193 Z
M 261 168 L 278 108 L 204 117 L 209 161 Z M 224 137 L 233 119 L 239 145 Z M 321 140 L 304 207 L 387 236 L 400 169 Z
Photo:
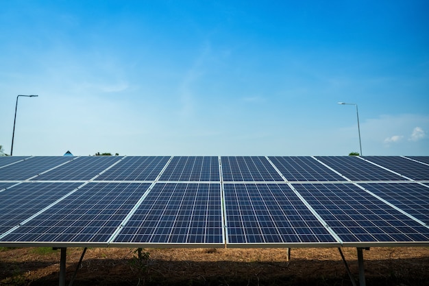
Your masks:
M 77 188 L 79 183 L 18 184 L 0 192 L 0 233 L 20 224 Z

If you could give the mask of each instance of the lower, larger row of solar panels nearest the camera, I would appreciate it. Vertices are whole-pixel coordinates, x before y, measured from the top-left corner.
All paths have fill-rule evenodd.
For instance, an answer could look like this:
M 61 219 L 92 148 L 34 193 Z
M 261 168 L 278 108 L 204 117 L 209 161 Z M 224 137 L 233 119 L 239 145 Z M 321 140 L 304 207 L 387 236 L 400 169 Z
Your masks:
M 0 245 L 428 246 L 428 198 L 413 182 L 23 182 L 0 192 Z

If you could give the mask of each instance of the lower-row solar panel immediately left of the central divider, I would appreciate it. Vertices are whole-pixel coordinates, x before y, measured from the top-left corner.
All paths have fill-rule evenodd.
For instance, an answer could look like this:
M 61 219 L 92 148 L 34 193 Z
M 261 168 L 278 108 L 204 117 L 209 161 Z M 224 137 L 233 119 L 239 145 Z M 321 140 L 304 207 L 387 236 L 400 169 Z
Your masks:
M 115 243 L 223 243 L 220 184 L 157 183 Z

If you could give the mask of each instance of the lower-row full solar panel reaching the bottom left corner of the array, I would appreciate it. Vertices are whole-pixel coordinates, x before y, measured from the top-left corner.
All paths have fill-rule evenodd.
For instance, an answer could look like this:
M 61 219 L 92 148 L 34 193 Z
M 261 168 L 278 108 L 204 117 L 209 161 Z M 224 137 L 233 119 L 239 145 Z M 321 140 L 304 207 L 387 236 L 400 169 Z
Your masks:
M 149 185 L 86 184 L 0 241 L 106 243 Z

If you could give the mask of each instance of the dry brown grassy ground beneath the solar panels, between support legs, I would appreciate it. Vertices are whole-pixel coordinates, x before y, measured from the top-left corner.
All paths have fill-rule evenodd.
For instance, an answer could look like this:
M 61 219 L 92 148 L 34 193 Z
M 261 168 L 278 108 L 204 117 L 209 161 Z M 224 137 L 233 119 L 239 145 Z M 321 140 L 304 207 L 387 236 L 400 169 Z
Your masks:
M 73 285 L 352 285 L 336 248 L 285 249 L 90 248 Z M 358 278 L 355 248 L 343 248 Z M 67 249 L 66 285 L 82 248 Z M 429 285 L 429 248 L 364 251 L 371 285 Z M 147 257 L 144 257 L 147 258 Z M 0 285 L 58 285 L 60 250 L 0 248 Z M 357 284 L 358 285 L 358 284 Z

